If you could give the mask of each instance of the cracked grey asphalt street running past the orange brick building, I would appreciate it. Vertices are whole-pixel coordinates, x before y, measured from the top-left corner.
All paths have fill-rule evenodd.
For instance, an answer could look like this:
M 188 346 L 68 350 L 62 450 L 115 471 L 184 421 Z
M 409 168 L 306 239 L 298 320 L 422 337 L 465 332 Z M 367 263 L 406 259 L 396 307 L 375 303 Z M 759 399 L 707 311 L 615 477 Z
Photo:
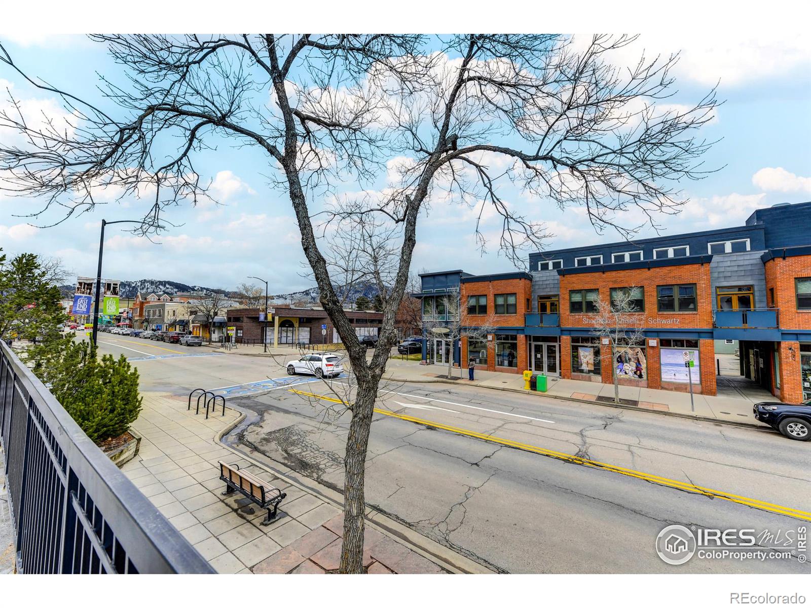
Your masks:
M 123 352 L 133 359 L 144 390 L 182 394 L 194 387 L 228 387 L 223 390 L 234 392 L 234 385 L 246 384 L 236 387 L 229 401 L 253 410 L 260 420 L 245 432 L 248 446 L 324 486 L 341 487 L 349 417 L 328 416 L 337 404 L 317 397 L 330 396 L 321 381 L 285 378 L 281 366 L 268 358 L 182 357 L 212 351 L 127 336 L 102 335 L 100 342 L 102 352 Z M 143 359 L 142 353 L 125 352 L 125 346 L 146 353 L 179 352 L 171 353 L 178 355 L 174 358 Z M 290 381 L 299 384 L 287 386 Z M 344 383 L 338 379 L 335 387 Z M 463 384 L 388 383 L 385 388 L 390 392 L 380 400 L 381 411 L 425 423 L 375 414 L 367 501 L 481 563 L 506 572 L 809 572 L 808 564 L 793 559 L 693 559 L 670 567 L 653 548 L 656 534 L 671 523 L 772 533 L 796 529 L 803 522 L 790 510 L 811 511 L 811 457 L 805 443 L 765 428 Z M 500 440 L 663 480 L 572 464 L 505 447 Z M 678 483 L 736 495 L 742 503 L 764 503 L 753 508 L 667 486 Z

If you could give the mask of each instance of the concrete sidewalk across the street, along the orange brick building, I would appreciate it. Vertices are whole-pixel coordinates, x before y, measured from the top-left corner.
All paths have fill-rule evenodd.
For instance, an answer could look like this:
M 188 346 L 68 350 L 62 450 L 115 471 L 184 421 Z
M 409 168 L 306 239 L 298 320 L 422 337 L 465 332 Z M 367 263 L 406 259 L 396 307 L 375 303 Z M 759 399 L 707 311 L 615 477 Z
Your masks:
M 593 402 L 595 405 L 613 406 L 614 385 L 583 380 L 570 380 L 548 377 L 547 392 L 526 391 L 524 379 L 520 374 L 506 374 L 496 371 L 476 370 L 473 382 L 467 379 L 467 370 L 453 368 L 456 380 L 448 380 L 448 366 L 423 366 L 418 362 L 391 359 L 386 367 L 385 379 L 396 382 L 443 382 L 462 386 L 478 386 L 502 391 L 521 392 L 532 396 L 549 396 L 558 399 Z M 758 396 L 760 397 L 760 396 Z M 765 396 L 757 400 L 765 400 Z M 771 397 L 774 399 L 774 397 Z M 752 413 L 753 400 L 743 396 L 705 396 L 693 395 L 695 411 L 690 407 L 690 396 L 686 392 L 661 391 L 645 387 L 620 386 L 620 399 L 630 400 L 636 405 L 632 409 L 644 409 L 654 413 L 670 413 L 687 417 L 699 417 L 709 420 L 751 424 L 762 427 Z M 609 402 L 606 402 L 608 400 Z

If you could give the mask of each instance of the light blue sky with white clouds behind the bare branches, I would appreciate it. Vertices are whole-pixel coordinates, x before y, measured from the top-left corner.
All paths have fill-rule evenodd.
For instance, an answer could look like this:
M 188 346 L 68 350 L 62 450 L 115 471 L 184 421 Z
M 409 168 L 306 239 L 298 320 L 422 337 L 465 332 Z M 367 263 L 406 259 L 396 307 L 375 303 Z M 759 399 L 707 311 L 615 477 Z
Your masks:
M 96 71 L 116 75 L 118 67 L 105 49 L 83 36 L 3 36 L 15 61 L 33 75 L 71 92 L 87 94 Z M 724 166 L 701 182 L 681 186 L 691 202 L 679 216 L 663 216 L 663 233 L 681 233 L 738 225 L 756 208 L 811 200 L 811 38 L 807 35 L 714 36 L 648 32 L 628 49 L 640 54 L 682 51 L 675 75 L 676 103 L 697 101 L 719 82 L 725 103 L 706 126 L 707 139 L 721 139 L 706 156 L 712 167 Z M 59 112 L 58 101 L 35 91 L 15 73 L 0 67 L 0 105 L 11 88 L 26 112 Z M 0 136 L 6 136 L 0 133 Z M 311 286 L 303 267 L 298 229 L 285 195 L 266 184 L 268 158 L 258 151 L 220 146 L 200 157 L 197 169 L 211 178 L 221 206 L 182 206 L 169 211 L 177 228 L 156 242 L 110 227 L 105 241 L 105 276 L 125 280 L 154 278 L 232 289 L 247 276 L 267 277 L 271 291 L 286 293 Z M 346 190 L 357 189 L 346 184 Z M 613 241 L 616 233 L 596 236 L 581 210 L 560 209 L 505 189 L 504 198 L 533 219 L 547 222 L 556 236 L 548 247 Z M 16 215 L 31 212 L 36 201 L 0 195 L 0 246 L 8 253 L 34 251 L 61 257 L 76 274 L 92 276 L 96 266 L 98 226 L 135 219 L 147 202 L 109 203 L 54 228 L 36 229 Z M 496 243 L 482 255 L 474 244 L 474 212 L 455 203 L 435 204 L 418 229 L 413 270 L 463 268 L 467 272 L 507 272 L 513 267 L 497 254 Z M 58 216 L 32 223 L 45 224 Z M 630 224 L 635 223 L 629 217 Z M 493 218 L 485 231 L 496 228 Z M 647 229 L 640 237 L 653 236 Z

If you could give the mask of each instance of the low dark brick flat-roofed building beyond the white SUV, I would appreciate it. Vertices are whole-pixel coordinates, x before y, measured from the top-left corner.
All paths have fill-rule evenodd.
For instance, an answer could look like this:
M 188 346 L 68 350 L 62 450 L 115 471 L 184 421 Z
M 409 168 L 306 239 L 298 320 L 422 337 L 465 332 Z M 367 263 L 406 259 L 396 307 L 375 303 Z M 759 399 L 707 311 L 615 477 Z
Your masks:
M 341 337 L 333 327 L 327 312 L 323 309 L 293 308 L 291 306 L 273 306 L 268 316 L 268 344 L 279 336 L 279 344 L 337 344 Z M 346 310 L 358 336 L 377 336 L 383 323 L 383 314 L 366 310 Z M 264 336 L 264 319 L 260 318 L 259 308 L 230 308 L 226 312 L 226 324 L 233 327 L 236 340 L 240 342 L 261 344 Z M 324 327 L 325 326 L 325 327 Z M 321 329 L 325 333 L 322 335 Z

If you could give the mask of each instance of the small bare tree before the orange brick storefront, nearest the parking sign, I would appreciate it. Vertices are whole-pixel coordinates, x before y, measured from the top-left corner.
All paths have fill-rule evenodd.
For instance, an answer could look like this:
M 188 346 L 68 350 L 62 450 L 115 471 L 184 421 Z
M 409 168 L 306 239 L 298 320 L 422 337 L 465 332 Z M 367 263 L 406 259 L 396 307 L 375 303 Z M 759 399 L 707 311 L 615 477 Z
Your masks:
M 586 316 L 586 323 L 594 325 L 591 333 L 608 338 L 611 345 L 611 361 L 603 360 L 601 365 L 611 366 L 614 403 L 620 403 L 620 374 L 637 375 L 641 373 L 637 369 L 647 367 L 644 310 L 637 305 L 641 299 L 642 287 L 612 289 L 611 302 L 600 299 L 596 303 L 596 313 Z

